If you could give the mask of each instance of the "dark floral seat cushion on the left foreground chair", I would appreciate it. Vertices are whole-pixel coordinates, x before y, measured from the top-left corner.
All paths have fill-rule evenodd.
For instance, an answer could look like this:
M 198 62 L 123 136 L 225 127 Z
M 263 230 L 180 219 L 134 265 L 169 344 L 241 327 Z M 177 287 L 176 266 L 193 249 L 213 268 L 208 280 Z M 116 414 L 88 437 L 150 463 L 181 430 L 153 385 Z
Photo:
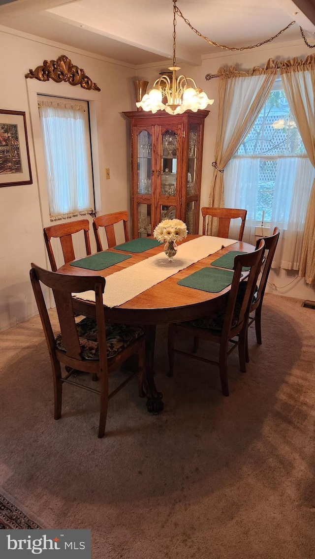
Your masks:
M 77 330 L 82 348 L 81 356 L 84 359 L 97 361 L 99 354 L 96 320 L 84 318 L 77 323 Z M 143 334 L 144 331 L 140 326 L 106 323 L 107 358 L 115 357 L 117 353 L 128 347 Z M 57 334 L 55 342 L 58 349 L 65 351 L 61 334 Z

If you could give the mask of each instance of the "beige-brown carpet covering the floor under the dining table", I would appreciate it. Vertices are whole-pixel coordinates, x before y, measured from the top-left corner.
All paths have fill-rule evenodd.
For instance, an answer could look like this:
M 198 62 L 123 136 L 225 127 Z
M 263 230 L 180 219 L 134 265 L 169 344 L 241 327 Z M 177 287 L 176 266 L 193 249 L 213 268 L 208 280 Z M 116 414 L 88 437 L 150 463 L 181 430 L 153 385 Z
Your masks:
M 101 440 L 93 394 L 65 386 L 54 421 L 39 319 L 3 331 L 0 492 L 45 527 L 91 528 L 93 559 L 313 558 L 315 311 L 301 302 L 265 296 L 263 344 L 251 329 L 246 374 L 229 358 L 228 398 L 216 367 L 176 356 L 167 378 L 158 329 L 163 413 L 131 382 Z

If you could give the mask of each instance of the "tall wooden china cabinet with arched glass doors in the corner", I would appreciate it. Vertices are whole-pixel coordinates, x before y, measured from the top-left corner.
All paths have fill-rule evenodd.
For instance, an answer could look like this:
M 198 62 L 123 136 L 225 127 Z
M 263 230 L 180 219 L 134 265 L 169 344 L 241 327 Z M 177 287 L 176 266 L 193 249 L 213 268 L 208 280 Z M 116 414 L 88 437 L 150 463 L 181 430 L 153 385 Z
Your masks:
M 182 115 L 123 113 L 130 121 L 133 239 L 153 234 L 163 219 L 185 221 L 198 233 L 204 120 L 209 111 Z

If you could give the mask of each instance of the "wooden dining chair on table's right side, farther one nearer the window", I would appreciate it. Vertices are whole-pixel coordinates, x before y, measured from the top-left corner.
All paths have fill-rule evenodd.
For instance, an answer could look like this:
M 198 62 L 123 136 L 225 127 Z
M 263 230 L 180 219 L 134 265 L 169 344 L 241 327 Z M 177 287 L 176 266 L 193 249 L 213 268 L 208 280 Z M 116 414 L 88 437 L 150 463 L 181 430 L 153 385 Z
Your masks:
M 267 286 L 267 281 L 269 277 L 269 272 L 272 264 L 272 260 L 274 259 L 275 251 L 277 248 L 278 240 L 279 240 L 280 230 L 279 227 L 274 228 L 274 232 L 269 237 L 263 237 L 265 241 L 265 250 L 268 251 L 267 256 L 265 256 L 264 262 L 264 269 L 261 274 L 260 282 L 258 282 L 258 290 L 255 290 L 255 295 L 252 300 L 251 308 L 250 308 L 250 315 L 248 317 L 248 326 L 255 322 L 255 330 L 256 330 L 256 339 L 257 344 L 261 344 L 261 308 L 262 308 L 262 301 L 264 300 L 265 290 Z M 261 239 L 257 239 L 256 248 L 260 243 Z M 252 315 L 253 313 L 253 315 Z M 252 315 L 252 316 L 251 316 Z M 246 336 L 246 362 L 250 361 L 249 354 L 248 354 L 248 336 Z

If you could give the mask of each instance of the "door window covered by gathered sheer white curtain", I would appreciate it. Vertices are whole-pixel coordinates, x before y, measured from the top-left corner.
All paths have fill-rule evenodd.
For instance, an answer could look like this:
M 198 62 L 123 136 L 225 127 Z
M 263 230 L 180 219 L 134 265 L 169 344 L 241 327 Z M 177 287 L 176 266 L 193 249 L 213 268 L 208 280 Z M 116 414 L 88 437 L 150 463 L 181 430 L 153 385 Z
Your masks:
M 88 103 L 38 96 L 50 219 L 93 212 Z

